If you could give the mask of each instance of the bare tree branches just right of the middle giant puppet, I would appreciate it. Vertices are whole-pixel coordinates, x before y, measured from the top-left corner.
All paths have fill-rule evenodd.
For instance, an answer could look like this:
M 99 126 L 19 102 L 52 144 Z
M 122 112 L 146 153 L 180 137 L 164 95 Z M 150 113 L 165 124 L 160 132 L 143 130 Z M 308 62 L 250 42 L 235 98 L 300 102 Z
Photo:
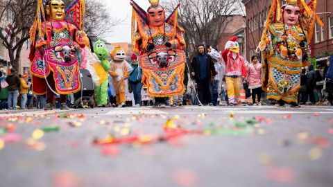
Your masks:
M 178 10 L 178 21 L 185 29 L 185 39 L 188 46 L 197 44 L 210 44 L 217 46 L 223 35 L 225 27 L 239 9 L 238 0 L 176 0 L 163 1 L 167 12 L 181 3 Z

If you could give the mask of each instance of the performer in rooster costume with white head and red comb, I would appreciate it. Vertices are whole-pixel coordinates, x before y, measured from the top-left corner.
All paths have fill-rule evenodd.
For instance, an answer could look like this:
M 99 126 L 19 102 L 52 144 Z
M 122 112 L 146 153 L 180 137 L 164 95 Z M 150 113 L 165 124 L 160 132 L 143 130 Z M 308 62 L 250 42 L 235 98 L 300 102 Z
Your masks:
M 246 77 L 244 57 L 239 55 L 237 37 L 232 37 L 225 44 L 222 57 L 225 63 L 225 82 L 227 84 L 229 105 L 238 105 L 239 93 Z

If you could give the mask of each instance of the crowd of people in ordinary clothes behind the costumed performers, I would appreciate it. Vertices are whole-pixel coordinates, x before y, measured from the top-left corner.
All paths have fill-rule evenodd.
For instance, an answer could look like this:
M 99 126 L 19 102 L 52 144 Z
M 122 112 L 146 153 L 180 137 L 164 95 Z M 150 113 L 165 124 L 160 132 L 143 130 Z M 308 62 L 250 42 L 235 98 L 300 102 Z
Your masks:
M 198 46 L 198 54 L 187 60 L 184 84 L 187 87 L 185 94 L 170 97 L 166 105 L 228 105 L 228 87 L 225 84 L 225 65 L 223 62 L 210 56 L 210 50 L 206 53 L 205 46 Z M 139 107 L 151 103 L 142 100 L 144 88 L 141 83 L 142 70 L 132 56 L 130 61 L 130 76 L 128 79 L 130 98 L 132 103 L 128 106 Z M 333 105 L 333 80 L 327 78 L 330 61 L 325 66 L 313 65 L 302 69 L 300 73 L 300 89 L 298 91 L 298 103 L 300 105 Z M 27 72 L 20 75 L 15 69 L 9 72 L 0 66 L 0 109 L 43 109 L 46 105 L 46 95 L 36 96 L 31 90 L 31 78 Z M 261 86 L 261 63 L 259 57 L 254 55 L 250 62 L 246 62 L 246 77 L 241 82 L 244 91 L 244 99 L 240 100 L 242 105 L 274 105 L 274 101 L 266 100 L 266 92 Z M 112 80 L 108 87 L 108 103 L 115 107 L 114 90 L 112 91 Z M 69 107 L 74 107 L 73 94 L 68 97 Z

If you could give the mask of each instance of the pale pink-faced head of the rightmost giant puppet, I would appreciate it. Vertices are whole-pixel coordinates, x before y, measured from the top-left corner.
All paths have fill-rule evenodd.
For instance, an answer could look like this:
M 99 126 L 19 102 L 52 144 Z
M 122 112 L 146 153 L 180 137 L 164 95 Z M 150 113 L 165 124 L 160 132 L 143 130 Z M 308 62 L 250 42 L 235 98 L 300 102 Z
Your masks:
M 298 22 L 300 16 L 300 8 L 297 0 L 287 0 L 281 7 L 281 15 L 284 24 L 294 26 Z

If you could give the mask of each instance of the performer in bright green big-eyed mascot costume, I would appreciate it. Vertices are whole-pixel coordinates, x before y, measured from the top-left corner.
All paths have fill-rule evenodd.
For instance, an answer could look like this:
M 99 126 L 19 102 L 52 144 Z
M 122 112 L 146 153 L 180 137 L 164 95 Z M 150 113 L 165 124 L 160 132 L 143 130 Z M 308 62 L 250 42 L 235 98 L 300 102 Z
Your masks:
M 94 44 L 94 53 L 101 60 L 101 62 L 94 64 L 94 69 L 99 75 L 99 84 L 95 84 L 95 100 L 98 107 L 105 107 L 108 103 L 108 71 L 110 70 L 110 63 L 106 60 L 108 49 L 100 39 Z

